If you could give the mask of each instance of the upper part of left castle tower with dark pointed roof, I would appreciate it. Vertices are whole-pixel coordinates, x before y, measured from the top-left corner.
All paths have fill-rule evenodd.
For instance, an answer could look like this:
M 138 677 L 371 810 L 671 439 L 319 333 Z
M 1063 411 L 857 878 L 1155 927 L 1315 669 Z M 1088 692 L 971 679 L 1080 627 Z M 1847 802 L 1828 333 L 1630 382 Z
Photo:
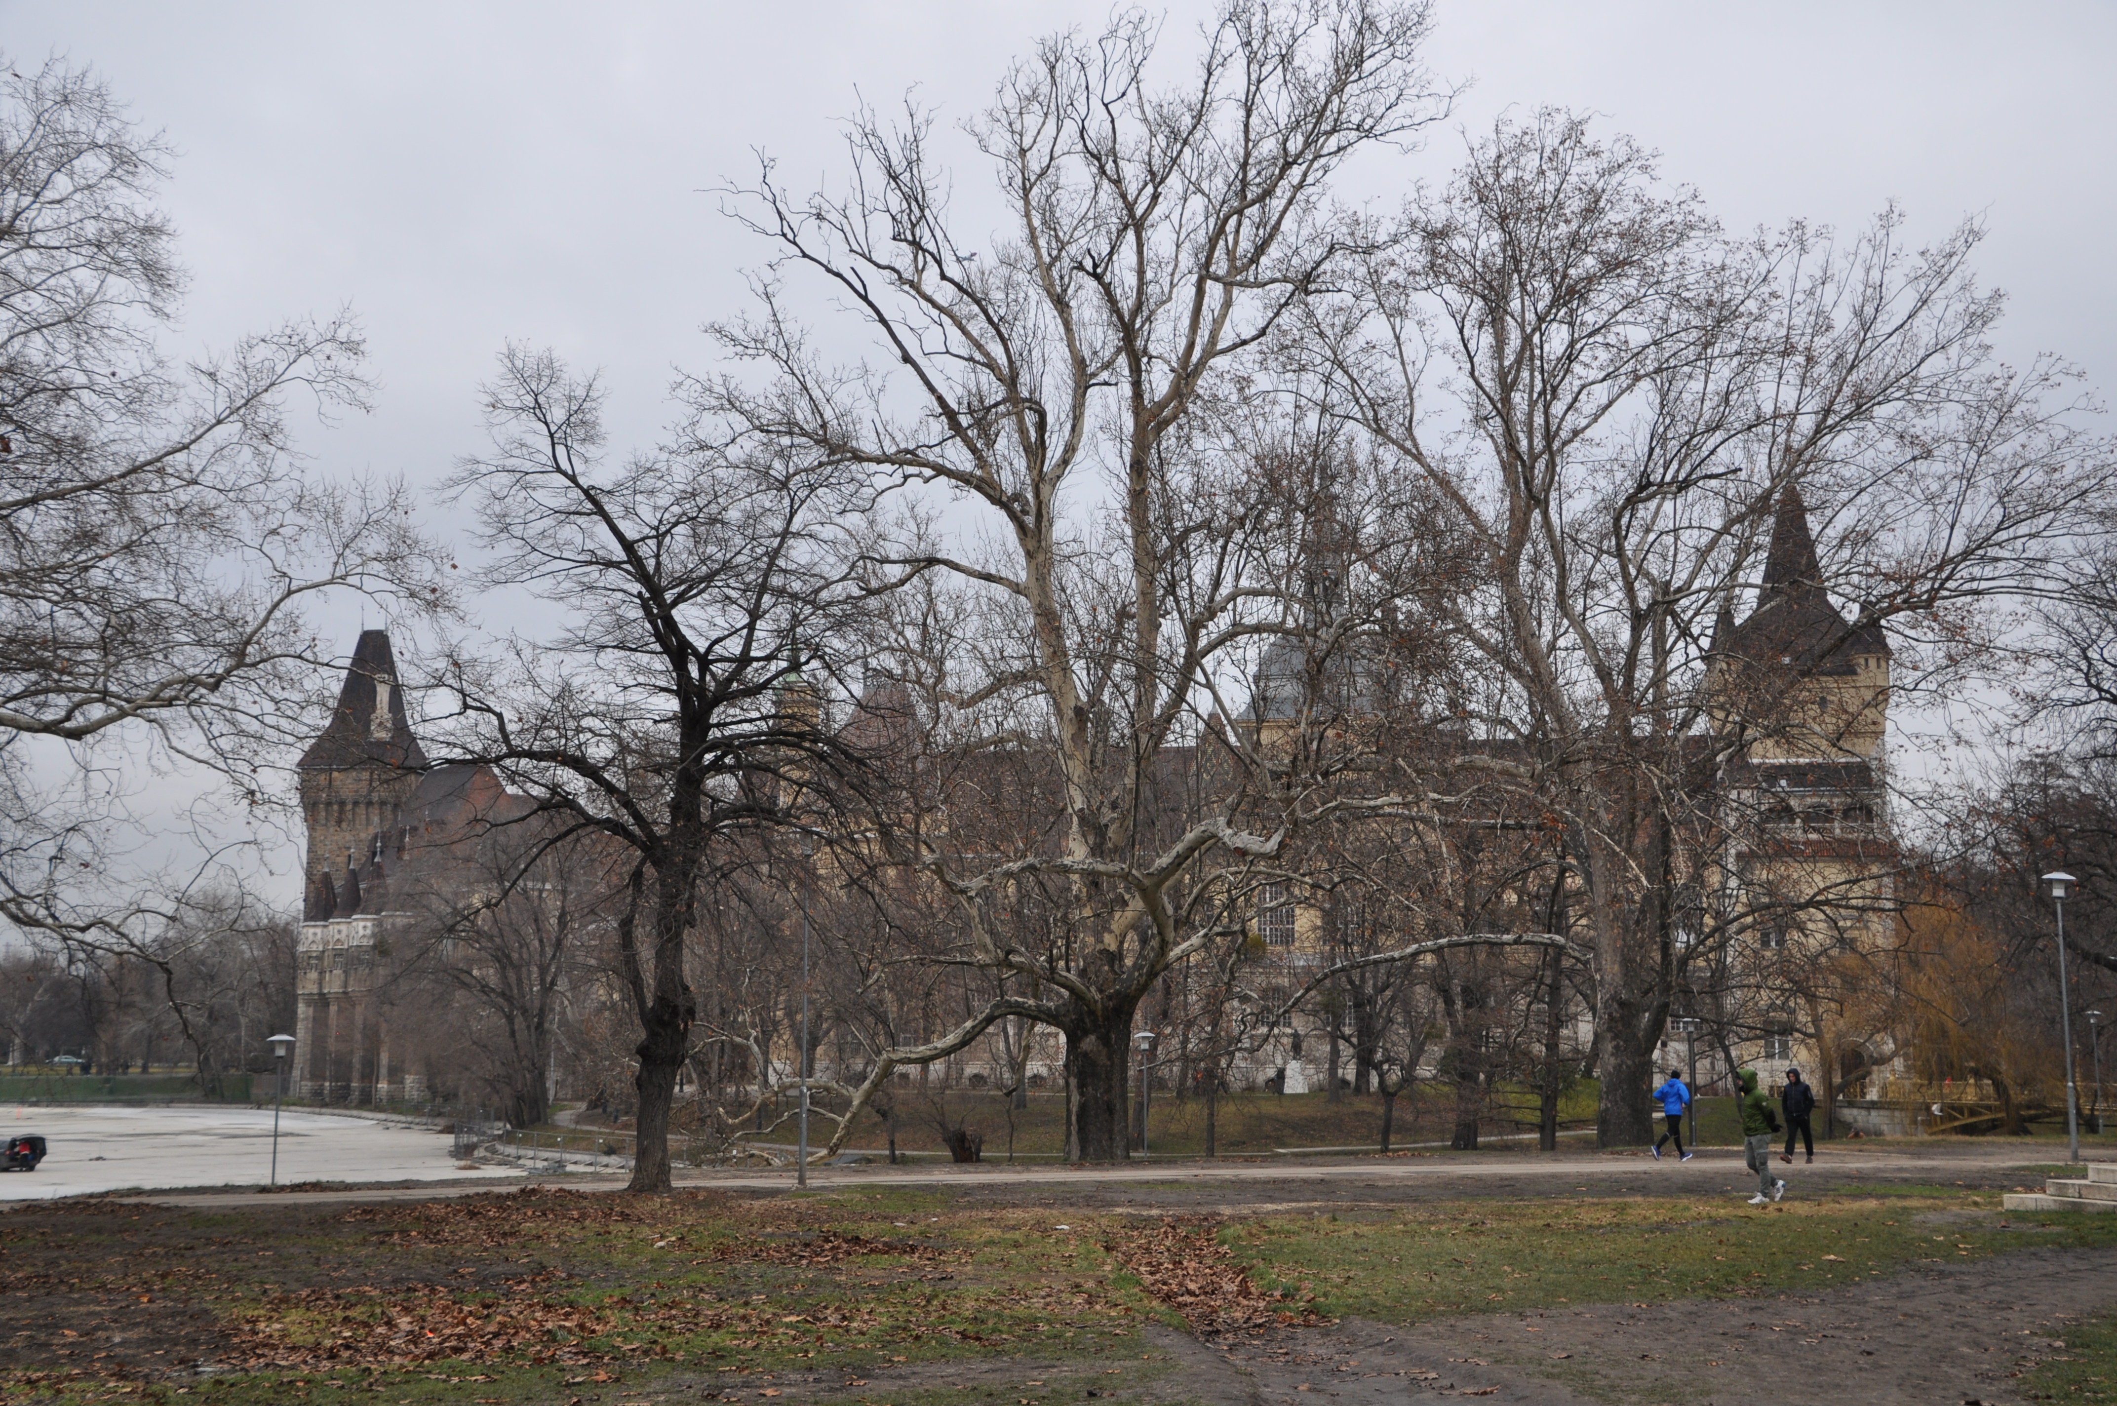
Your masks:
M 360 631 L 339 707 L 298 764 L 301 811 L 309 824 L 307 894 L 315 896 L 318 881 L 343 872 L 347 862 L 366 864 L 375 834 L 394 822 L 423 769 L 426 754 L 404 718 L 390 633 Z

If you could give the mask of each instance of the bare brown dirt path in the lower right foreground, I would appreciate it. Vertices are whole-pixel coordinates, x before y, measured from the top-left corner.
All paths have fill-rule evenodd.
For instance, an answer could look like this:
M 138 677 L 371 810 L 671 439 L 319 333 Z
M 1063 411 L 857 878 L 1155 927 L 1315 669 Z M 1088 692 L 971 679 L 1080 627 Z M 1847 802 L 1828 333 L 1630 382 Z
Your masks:
M 1351 1319 L 1262 1342 L 1173 1347 L 1207 1402 L 1342 1406 L 1484 1395 L 1533 1406 L 1956 1406 L 2013 1381 L 2066 1326 L 2117 1309 L 2117 1249 L 2022 1249 L 1827 1294 L 1586 1304 L 1385 1328 Z

